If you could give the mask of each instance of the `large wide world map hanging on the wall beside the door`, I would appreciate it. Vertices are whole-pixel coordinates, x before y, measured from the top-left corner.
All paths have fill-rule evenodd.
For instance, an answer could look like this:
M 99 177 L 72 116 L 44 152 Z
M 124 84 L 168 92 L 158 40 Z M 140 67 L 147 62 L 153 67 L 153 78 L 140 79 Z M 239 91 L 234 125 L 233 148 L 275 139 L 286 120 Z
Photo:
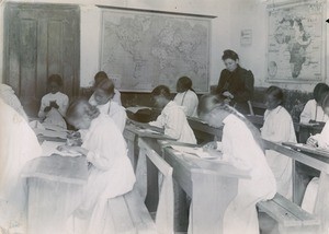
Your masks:
M 196 92 L 208 91 L 209 30 L 206 17 L 103 10 L 101 70 L 121 91 L 175 92 L 186 75 Z

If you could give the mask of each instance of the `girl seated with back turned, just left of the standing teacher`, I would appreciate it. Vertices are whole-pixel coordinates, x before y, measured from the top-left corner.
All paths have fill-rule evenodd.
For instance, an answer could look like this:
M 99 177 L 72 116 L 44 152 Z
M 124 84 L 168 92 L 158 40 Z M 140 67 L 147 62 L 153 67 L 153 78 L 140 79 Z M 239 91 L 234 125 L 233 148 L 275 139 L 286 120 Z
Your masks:
M 177 82 L 177 95 L 173 98 L 178 105 L 184 107 L 186 116 L 197 117 L 196 109 L 198 98 L 192 89 L 192 81 L 188 77 L 182 77 Z

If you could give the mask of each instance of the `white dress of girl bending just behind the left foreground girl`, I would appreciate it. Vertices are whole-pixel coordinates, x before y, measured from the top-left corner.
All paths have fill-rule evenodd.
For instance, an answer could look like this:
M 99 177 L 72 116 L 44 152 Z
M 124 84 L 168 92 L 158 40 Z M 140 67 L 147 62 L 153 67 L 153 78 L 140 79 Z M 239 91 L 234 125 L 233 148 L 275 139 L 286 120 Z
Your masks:
M 104 105 L 97 105 L 97 107 L 100 113 L 109 115 L 113 119 L 121 132 L 124 131 L 127 120 L 127 114 L 126 109 L 123 106 L 110 100 Z

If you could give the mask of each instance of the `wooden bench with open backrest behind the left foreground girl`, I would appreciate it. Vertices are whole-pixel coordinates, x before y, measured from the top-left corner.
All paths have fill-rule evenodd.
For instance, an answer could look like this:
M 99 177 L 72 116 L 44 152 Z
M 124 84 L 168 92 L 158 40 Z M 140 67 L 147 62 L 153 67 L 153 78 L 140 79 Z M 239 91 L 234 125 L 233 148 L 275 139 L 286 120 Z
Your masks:
M 104 233 L 173 233 L 172 167 L 141 139 L 138 140 L 138 145 L 140 150 L 137 167 L 144 165 L 146 168 L 144 163 L 148 159 L 162 175 L 156 221 L 152 220 L 144 203 L 146 197 L 144 188 L 147 187 L 146 179 L 144 173 L 139 174 L 137 168 L 137 182 L 134 189 L 124 196 L 109 199 Z

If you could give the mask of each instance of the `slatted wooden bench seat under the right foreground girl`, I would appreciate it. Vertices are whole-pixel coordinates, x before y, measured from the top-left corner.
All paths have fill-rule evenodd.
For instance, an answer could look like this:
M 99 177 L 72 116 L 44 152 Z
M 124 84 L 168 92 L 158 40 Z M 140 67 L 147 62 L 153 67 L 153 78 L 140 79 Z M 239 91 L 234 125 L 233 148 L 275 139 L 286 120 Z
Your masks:
M 281 234 L 319 233 L 320 221 L 280 194 L 257 207 L 277 222 Z

